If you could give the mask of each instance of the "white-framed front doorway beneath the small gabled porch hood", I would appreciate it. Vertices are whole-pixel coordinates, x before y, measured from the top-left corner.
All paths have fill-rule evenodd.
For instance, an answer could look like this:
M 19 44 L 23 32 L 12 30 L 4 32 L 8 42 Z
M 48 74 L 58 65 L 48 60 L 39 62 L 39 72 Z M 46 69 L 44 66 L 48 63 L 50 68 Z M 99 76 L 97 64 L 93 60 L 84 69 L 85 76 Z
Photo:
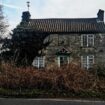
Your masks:
M 58 66 L 63 66 L 69 63 L 69 56 L 58 56 Z

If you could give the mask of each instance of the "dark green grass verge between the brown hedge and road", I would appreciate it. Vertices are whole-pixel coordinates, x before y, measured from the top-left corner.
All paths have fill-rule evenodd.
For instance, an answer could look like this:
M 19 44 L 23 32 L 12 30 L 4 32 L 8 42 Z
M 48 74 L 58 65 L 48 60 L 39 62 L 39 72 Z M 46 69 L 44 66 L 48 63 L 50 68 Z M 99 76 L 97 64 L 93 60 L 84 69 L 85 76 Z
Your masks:
M 66 92 L 66 91 L 51 91 L 40 89 L 4 89 L 0 88 L 0 97 L 5 98 L 73 98 L 73 99 L 99 99 L 105 100 L 105 92 L 97 91 L 80 91 L 80 92 Z

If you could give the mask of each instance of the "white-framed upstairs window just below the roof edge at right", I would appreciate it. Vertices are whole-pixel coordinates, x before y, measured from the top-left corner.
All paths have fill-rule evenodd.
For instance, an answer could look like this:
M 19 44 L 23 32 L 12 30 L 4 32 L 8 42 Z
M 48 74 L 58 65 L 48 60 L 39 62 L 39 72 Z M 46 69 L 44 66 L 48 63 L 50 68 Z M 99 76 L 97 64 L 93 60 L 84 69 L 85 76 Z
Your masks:
M 81 35 L 81 46 L 93 47 L 94 46 L 94 34 Z

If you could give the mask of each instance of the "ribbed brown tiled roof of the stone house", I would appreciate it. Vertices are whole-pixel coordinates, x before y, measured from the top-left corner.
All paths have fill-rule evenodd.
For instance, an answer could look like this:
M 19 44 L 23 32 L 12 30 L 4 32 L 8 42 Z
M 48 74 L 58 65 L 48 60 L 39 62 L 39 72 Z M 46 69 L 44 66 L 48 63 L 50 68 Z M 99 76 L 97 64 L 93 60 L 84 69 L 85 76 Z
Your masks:
M 40 33 L 105 33 L 105 24 L 98 18 L 30 19 L 19 27 Z

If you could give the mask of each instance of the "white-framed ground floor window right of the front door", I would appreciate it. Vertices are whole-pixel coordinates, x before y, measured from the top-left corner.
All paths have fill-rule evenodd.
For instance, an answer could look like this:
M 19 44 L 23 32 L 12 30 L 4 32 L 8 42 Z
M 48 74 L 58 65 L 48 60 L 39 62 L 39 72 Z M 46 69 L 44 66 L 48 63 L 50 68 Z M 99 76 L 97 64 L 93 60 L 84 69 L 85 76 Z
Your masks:
M 84 55 L 81 56 L 81 66 L 82 68 L 90 69 L 94 65 L 94 55 Z

